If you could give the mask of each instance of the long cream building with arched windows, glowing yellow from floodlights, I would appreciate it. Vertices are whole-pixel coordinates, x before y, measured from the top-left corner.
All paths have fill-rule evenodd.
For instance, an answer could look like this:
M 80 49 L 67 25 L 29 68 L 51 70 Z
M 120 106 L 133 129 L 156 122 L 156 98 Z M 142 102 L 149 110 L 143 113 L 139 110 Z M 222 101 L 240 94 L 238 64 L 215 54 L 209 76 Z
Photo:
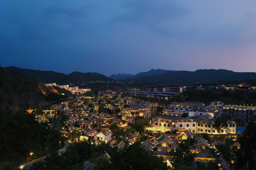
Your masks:
M 214 117 L 209 114 L 197 116 L 195 118 L 182 118 L 180 114 L 167 112 L 152 118 L 152 124 L 155 130 L 188 130 L 192 133 L 209 133 L 219 134 L 215 129 Z M 234 121 L 227 121 L 227 126 L 224 127 L 222 134 L 235 134 L 236 123 Z

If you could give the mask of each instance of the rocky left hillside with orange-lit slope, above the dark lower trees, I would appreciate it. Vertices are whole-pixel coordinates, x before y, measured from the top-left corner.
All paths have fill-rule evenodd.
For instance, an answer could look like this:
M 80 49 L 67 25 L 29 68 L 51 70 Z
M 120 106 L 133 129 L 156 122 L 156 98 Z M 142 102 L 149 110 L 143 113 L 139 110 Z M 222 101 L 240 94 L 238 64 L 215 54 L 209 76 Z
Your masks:
M 62 95 L 64 93 L 65 95 Z M 29 107 L 47 105 L 71 97 L 69 91 L 16 75 L 0 67 L 0 110 L 23 112 Z

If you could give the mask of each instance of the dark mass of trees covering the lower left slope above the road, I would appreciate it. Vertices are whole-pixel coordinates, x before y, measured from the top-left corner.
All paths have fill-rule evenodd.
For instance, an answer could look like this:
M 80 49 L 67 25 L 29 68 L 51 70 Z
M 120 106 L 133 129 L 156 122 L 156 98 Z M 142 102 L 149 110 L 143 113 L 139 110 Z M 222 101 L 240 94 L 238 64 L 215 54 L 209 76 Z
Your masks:
M 30 152 L 39 156 L 60 149 L 61 132 L 49 128 L 48 123 L 39 123 L 34 115 L 0 111 L 0 119 L 1 161 L 18 167 L 30 157 Z

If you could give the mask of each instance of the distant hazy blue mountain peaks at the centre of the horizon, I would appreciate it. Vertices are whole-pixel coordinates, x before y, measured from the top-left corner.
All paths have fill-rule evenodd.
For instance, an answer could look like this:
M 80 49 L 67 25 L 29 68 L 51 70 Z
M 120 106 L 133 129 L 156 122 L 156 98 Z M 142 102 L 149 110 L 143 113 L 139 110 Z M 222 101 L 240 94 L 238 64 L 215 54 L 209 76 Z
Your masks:
M 151 69 L 147 72 L 140 72 L 138 74 L 132 75 L 132 74 L 112 74 L 111 76 L 109 76 L 110 78 L 114 79 L 114 80 L 125 80 L 125 79 L 129 79 L 129 78 L 137 78 L 137 77 L 141 77 L 141 76 L 150 76 L 150 75 L 159 75 L 159 74 L 164 74 L 167 72 L 175 72 L 176 70 L 162 70 L 162 69 Z

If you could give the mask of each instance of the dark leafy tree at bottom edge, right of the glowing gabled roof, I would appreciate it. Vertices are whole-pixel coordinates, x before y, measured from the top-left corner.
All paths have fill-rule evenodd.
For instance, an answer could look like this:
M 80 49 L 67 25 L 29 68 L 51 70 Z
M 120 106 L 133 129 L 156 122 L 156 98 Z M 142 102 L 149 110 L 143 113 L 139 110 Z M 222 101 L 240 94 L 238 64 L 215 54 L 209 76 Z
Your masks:
M 195 160 L 196 153 L 192 153 L 189 149 L 195 148 L 196 140 L 188 138 L 184 142 L 177 143 L 178 147 L 176 150 L 170 151 L 170 159 L 172 169 L 187 169 L 191 163 Z

